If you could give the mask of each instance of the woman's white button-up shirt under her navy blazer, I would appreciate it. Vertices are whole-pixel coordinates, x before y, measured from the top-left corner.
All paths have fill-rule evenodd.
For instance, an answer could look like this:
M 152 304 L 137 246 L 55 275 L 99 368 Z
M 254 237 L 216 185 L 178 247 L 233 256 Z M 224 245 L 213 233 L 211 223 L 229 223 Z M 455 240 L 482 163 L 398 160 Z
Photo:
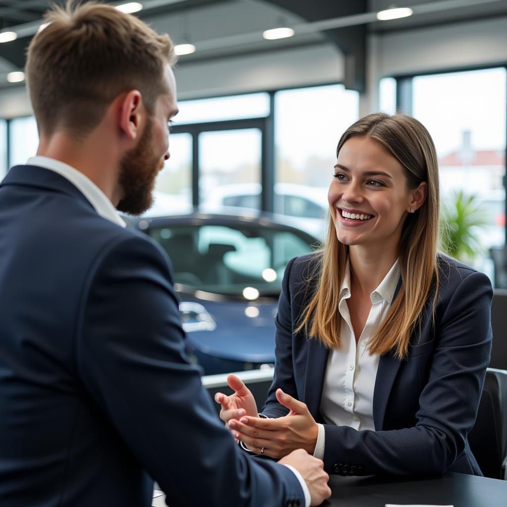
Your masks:
M 340 348 L 332 350 L 329 354 L 320 400 L 320 413 L 326 424 L 375 431 L 373 390 L 379 356 L 370 355 L 367 346 L 387 315 L 399 279 L 400 267 L 396 260 L 379 286 L 370 295 L 372 307 L 356 345 L 347 306 L 347 299 L 350 298 L 350 265 L 347 263 L 338 305 L 343 319 Z M 313 455 L 322 459 L 324 445 L 324 427 L 319 424 Z

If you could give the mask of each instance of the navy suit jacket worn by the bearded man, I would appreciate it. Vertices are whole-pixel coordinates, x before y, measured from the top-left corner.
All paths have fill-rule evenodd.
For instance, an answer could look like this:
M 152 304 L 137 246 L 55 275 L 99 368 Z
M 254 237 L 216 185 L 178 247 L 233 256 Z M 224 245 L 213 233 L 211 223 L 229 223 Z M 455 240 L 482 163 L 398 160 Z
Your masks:
M 216 417 L 162 249 L 48 169 L 0 185 L 0 308 L 2 507 L 304 504 Z

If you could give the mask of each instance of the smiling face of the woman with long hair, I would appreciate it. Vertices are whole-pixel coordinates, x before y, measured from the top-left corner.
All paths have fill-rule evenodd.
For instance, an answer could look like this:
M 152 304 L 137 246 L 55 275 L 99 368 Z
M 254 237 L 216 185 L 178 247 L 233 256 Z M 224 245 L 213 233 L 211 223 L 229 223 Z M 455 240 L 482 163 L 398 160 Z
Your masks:
M 328 193 L 338 240 L 395 251 L 407 210 L 422 204 L 415 193 L 407 188 L 403 166 L 380 143 L 351 137 L 338 154 Z

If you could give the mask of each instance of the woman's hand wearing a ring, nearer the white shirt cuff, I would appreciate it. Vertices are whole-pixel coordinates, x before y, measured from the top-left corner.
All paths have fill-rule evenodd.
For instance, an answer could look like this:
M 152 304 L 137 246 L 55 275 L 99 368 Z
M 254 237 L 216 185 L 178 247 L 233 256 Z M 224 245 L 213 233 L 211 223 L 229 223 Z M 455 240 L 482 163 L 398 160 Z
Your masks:
M 277 419 L 241 417 L 230 420 L 229 427 L 236 440 L 243 442 L 252 452 L 279 459 L 296 449 L 304 449 L 313 454 L 317 444 L 318 425 L 306 405 L 281 389 L 276 390 L 276 398 L 289 412 Z

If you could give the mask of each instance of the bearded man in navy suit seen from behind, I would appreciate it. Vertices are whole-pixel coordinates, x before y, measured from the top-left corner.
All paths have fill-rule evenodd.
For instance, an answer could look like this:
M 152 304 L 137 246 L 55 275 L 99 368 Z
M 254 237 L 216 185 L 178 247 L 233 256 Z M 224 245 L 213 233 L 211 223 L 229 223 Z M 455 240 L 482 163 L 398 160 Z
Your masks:
M 115 209 L 147 209 L 169 157 L 171 41 L 107 5 L 47 21 L 38 154 L 0 185 L 0 505 L 148 506 L 153 479 L 171 507 L 319 504 L 320 460 L 250 458 L 216 417 L 168 259 Z

